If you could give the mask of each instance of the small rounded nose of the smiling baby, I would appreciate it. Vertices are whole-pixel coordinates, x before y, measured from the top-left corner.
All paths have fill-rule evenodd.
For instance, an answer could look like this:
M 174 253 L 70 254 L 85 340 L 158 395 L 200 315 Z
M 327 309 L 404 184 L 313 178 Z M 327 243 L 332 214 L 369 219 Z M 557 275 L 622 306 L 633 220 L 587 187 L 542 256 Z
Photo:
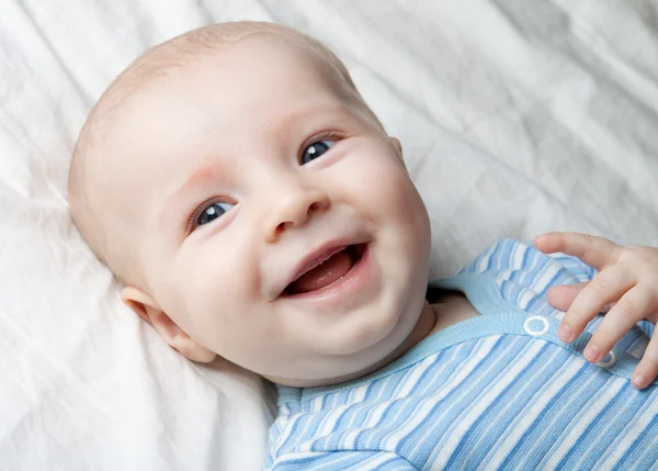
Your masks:
M 286 186 L 272 194 L 265 240 L 275 242 L 286 229 L 305 224 L 314 213 L 326 211 L 329 205 L 329 197 L 320 189 L 302 184 Z

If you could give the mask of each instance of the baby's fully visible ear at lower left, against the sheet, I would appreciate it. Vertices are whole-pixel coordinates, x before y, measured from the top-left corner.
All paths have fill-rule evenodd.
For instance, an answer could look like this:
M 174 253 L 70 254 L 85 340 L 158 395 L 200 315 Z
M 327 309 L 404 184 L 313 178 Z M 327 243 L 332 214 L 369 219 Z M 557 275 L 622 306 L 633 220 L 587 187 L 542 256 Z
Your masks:
M 121 292 L 121 300 L 152 325 L 171 348 L 189 360 L 209 363 L 217 356 L 185 334 L 148 293 L 135 287 L 125 287 Z

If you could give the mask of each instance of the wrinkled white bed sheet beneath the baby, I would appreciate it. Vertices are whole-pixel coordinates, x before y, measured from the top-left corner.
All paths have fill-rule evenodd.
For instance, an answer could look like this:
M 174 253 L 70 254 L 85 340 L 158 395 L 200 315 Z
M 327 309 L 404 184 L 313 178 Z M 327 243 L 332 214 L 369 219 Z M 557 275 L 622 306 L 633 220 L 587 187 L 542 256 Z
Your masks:
M 139 323 L 66 204 L 110 80 L 241 19 L 344 59 L 428 203 L 432 276 L 547 229 L 658 245 L 655 1 L 0 0 L 0 469 L 259 468 L 272 389 Z

